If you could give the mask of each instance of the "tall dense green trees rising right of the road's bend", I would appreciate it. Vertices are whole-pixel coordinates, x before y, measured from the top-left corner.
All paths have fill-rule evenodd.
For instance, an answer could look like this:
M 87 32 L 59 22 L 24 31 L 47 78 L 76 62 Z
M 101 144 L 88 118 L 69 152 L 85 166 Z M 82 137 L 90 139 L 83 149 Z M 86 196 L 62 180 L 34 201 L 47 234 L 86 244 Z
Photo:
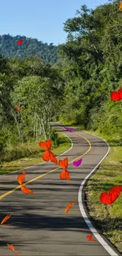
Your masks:
M 77 17 L 65 22 L 67 43 L 59 50 L 65 65 L 61 118 L 84 128 L 122 138 L 122 101 L 110 93 L 122 87 L 122 13 L 120 1 L 92 10 L 82 6 Z

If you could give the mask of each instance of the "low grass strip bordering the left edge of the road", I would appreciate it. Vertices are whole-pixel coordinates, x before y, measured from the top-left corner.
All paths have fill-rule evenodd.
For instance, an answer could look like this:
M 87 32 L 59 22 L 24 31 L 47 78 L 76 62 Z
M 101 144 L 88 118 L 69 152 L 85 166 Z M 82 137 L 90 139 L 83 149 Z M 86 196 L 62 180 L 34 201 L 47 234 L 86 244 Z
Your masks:
M 59 154 L 64 153 L 71 147 L 71 141 L 65 135 L 58 135 L 58 143 L 59 147 L 52 147 L 52 152 L 57 156 Z M 0 166 L 0 175 L 6 173 L 13 173 L 17 170 L 24 169 L 31 165 L 38 165 L 43 162 L 43 158 L 41 157 L 43 154 L 43 150 L 37 144 L 32 144 L 27 147 L 30 147 L 31 156 L 27 158 L 20 158 L 16 161 L 5 161 L 2 166 Z

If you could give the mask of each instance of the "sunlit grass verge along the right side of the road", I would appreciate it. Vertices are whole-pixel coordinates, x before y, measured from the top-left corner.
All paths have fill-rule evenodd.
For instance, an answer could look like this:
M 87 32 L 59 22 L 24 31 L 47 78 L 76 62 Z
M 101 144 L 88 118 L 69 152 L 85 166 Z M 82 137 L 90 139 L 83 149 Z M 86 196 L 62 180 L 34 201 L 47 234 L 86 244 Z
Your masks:
M 68 124 L 74 128 L 83 129 L 82 125 Z M 85 132 L 85 130 L 83 129 Z M 100 132 L 88 131 L 98 135 L 109 144 L 109 155 L 102 161 L 99 169 L 91 176 L 85 188 L 87 209 L 98 229 L 111 243 L 122 252 L 122 192 L 111 206 L 106 206 L 99 200 L 102 192 L 109 191 L 116 184 L 122 185 L 122 147 L 117 135 L 103 135 Z

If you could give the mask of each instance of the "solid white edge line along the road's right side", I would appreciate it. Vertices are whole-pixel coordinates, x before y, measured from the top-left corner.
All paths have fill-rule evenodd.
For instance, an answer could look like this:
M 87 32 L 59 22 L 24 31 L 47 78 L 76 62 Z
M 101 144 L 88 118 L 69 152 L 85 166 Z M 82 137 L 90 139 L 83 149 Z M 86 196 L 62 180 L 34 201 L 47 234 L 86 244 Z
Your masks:
M 79 130 L 80 132 L 81 130 Z M 82 132 L 82 131 L 81 131 Z M 83 131 L 84 132 L 84 131 Z M 89 132 L 85 132 L 87 134 L 92 135 Z M 102 139 L 101 137 L 94 135 L 95 137 L 98 137 L 100 139 Z M 102 139 L 105 141 L 105 139 Z M 106 143 L 106 141 L 105 141 Z M 101 161 L 99 161 L 98 165 L 100 165 L 102 163 L 102 161 L 106 158 L 107 154 L 109 154 L 109 145 L 108 143 L 106 143 L 108 146 L 108 151 L 105 154 L 104 158 L 102 158 Z M 91 173 L 89 173 L 87 175 L 87 177 L 85 177 L 85 179 L 83 180 L 82 184 L 79 187 L 79 193 L 78 193 L 78 202 L 79 202 L 79 210 L 83 216 L 84 221 L 87 223 L 87 226 L 91 229 L 91 232 L 93 233 L 93 235 L 96 237 L 96 239 L 98 239 L 98 242 L 102 244 L 102 247 L 105 248 L 105 250 L 107 250 L 107 252 L 111 255 L 111 256 L 119 256 L 118 254 L 115 253 L 115 251 L 109 246 L 108 243 L 105 242 L 105 240 L 102 238 L 102 236 L 100 236 L 98 234 L 98 231 L 94 228 L 93 224 L 91 224 L 91 221 L 89 220 L 89 218 L 87 217 L 87 213 L 85 212 L 84 208 L 83 208 L 83 185 L 87 182 L 88 178 L 91 176 L 92 173 L 94 173 L 94 171 L 98 168 L 98 165 L 95 166 L 95 168 L 91 171 Z

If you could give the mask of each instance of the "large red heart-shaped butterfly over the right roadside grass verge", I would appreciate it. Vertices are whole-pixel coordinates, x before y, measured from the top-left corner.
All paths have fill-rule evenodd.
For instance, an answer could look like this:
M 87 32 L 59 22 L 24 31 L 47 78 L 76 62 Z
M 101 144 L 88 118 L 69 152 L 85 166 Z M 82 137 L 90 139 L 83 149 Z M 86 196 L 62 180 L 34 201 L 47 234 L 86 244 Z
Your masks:
M 107 205 L 110 205 L 114 201 L 116 201 L 116 198 L 119 197 L 121 191 L 122 191 L 121 186 L 119 187 L 118 185 L 116 185 L 115 187 L 113 187 L 113 188 L 111 188 L 109 190 L 109 193 L 103 192 L 100 195 L 99 199 L 100 199 L 101 202 L 103 202 L 103 203 L 105 203 Z

